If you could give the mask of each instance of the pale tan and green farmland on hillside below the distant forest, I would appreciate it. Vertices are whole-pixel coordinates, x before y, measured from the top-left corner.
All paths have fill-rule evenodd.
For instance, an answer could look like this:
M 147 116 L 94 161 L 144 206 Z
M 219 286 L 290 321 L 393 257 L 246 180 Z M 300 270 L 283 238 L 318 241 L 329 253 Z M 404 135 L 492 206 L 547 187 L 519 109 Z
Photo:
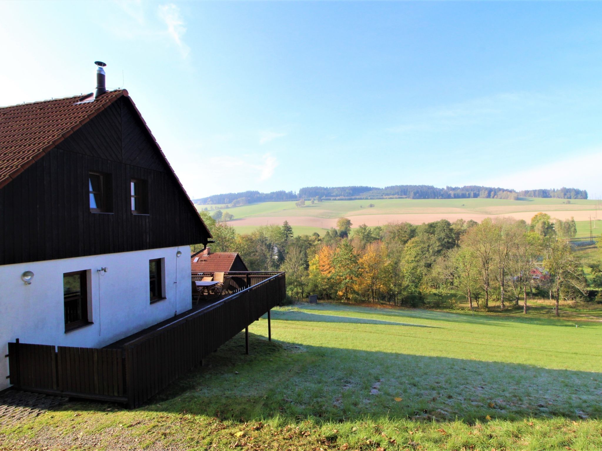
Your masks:
M 294 201 L 263 202 L 242 207 L 228 208 L 234 215 L 229 224 L 239 233 L 249 233 L 259 225 L 281 225 L 285 219 L 293 226 L 296 235 L 313 232 L 323 233 L 335 227 L 341 216 L 351 219 L 353 227 L 360 224 L 370 226 L 383 225 L 386 222 L 408 221 L 412 224 L 438 221 L 439 219 L 464 219 L 482 221 L 487 217 L 512 216 L 515 219 L 529 221 L 537 212 L 548 213 L 552 218 L 567 219 L 574 216 L 576 221 L 588 221 L 594 218 L 595 200 L 571 200 L 567 204 L 563 199 L 519 198 L 504 199 L 379 199 L 379 200 L 335 200 L 320 203 L 306 203 L 295 206 Z M 374 207 L 368 207 L 373 204 Z M 198 209 L 208 207 L 197 206 Z M 214 206 L 216 207 L 216 206 Z M 209 210 L 211 213 L 211 210 Z M 602 230 L 602 211 L 598 211 L 598 229 Z

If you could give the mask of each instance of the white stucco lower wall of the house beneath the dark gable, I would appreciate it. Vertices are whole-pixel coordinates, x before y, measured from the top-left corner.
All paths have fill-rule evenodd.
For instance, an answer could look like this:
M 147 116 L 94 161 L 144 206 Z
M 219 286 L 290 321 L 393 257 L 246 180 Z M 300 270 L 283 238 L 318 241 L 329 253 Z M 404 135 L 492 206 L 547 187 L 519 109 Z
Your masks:
M 182 252 L 176 257 L 176 252 Z M 164 260 L 166 299 L 149 301 L 149 260 Z M 177 271 L 176 271 L 177 266 Z M 106 267 L 107 272 L 98 272 Z M 65 333 L 63 274 L 91 270 L 88 318 L 93 324 Z M 33 271 L 31 285 L 21 280 Z M 177 283 L 175 283 L 177 282 Z M 104 254 L 0 266 L 0 390 L 8 387 L 8 342 L 106 346 L 191 308 L 190 247 Z M 90 310 L 90 307 L 88 307 Z

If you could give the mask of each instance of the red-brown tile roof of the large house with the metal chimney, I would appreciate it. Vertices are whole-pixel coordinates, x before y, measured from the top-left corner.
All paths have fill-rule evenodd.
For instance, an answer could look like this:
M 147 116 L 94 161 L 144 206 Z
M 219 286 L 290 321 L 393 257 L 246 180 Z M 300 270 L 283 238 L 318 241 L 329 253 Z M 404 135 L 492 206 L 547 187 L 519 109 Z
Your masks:
M 180 188 L 186 193 L 184 186 L 165 158 L 161 146 L 155 140 L 146 121 L 125 89 L 108 91 L 96 99 L 91 93 L 85 96 L 0 107 L 0 188 L 10 183 L 26 168 L 120 97 L 129 99 Z M 199 215 L 192 201 L 190 201 L 190 206 Z M 203 222 L 200 215 L 199 219 Z M 203 227 L 209 238 L 212 238 L 204 222 Z

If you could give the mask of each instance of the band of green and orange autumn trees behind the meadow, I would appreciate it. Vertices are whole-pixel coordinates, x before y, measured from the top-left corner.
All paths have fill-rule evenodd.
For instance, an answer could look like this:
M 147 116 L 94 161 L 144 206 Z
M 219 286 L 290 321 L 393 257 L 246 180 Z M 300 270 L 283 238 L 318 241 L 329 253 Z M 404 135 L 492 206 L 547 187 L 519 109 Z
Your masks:
M 538 213 L 527 224 L 514 219 L 486 219 L 481 224 L 443 219 L 421 225 L 408 222 L 351 232 L 340 218 L 323 236 L 293 236 L 282 226 L 265 225 L 238 235 L 223 222 L 206 222 L 216 251 L 237 251 L 257 271 L 287 272 L 291 296 L 309 293 L 343 301 L 420 305 L 429 293 L 461 293 L 470 307 L 506 308 L 529 295 L 562 298 L 587 292 L 582 265 L 568 239 L 574 219 L 551 221 Z M 602 271 L 601 283 L 602 283 Z

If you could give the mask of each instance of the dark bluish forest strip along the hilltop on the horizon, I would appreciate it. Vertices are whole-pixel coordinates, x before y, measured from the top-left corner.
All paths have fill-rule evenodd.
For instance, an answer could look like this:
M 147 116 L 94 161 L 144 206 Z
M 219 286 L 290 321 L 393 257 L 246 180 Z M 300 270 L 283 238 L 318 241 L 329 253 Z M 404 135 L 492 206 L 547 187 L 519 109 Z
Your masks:
M 588 192 L 585 189 L 560 188 L 560 189 L 527 189 L 515 191 L 514 189 L 492 188 L 491 186 L 445 186 L 435 188 L 431 185 L 394 185 L 385 188 L 373 186 L 311 186 L 301 188 L 297 195 L 293 191 L 273 191 L 262 193 L 259 191 L 231 192 L 219 194 L 194 201 L 200 204 L 232 204 L 232 206 L 245 203 L 297 200 L 319 198 L 320 200 L 353 200 L 353 199 L 517 199 L 519 197 L 553 197 L 559 199 L 586 199 Z

